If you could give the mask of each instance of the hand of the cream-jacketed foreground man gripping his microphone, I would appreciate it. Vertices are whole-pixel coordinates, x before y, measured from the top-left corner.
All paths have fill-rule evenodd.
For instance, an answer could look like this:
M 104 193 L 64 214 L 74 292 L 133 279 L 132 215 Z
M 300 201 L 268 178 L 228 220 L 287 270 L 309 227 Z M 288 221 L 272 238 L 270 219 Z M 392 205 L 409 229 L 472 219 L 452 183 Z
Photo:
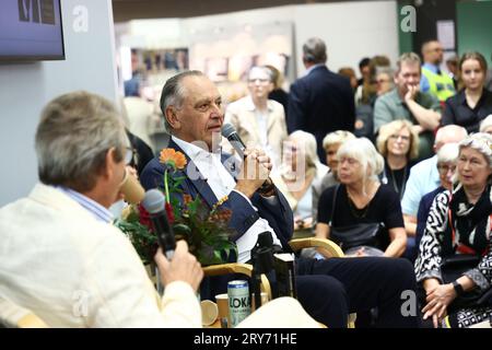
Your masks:
M 176 242 L 176 250 L 171 261 L 162 254 L 161 248 L 155 254 L 154 260 L 164 285 L 174 281 L 183 281 L 190 284 L 195 292 L 198 290 L 203 278 L 203 270 L 197 258 L 188 252 L 186 241 Z

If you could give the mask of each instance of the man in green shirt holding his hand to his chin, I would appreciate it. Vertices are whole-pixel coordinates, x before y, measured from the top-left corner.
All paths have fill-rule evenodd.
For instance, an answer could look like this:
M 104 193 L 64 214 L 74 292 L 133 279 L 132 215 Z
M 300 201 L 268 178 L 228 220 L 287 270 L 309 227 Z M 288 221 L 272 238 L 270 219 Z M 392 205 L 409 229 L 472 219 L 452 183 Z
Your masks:
M 400 56 L 395 73 L 396 88 L 376 100 L 374 106 L 374 132 L 397 119 L 407 119 L 419 133 L 419 160 L 433 155 L 434 130 L 441 120 L 437 98 L 419 91 L 420 58 L 417 54 Z

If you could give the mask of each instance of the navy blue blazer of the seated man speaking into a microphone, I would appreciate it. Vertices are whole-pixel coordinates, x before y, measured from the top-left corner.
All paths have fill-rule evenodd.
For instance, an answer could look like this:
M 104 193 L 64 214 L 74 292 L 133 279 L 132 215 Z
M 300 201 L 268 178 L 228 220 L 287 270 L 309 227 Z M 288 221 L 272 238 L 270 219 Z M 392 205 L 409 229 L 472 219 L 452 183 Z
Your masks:
M 194 164 L 192 160 L 190 160 L 188 154 L 186 154 L 173 140 L 169 141 L 167 148 L 172 148 L 185 154 L 187 160 L 186 168 L 192 168 L 195 173 L 194 175 L 199 175 L 194 176 L 198 178 L 190 178 L 186 173 L 186 168 L 174 173 L 173 176 L 175 177 L 185 177 L 185 180 L 180 185 L 183 194 L 188 194 L 194 199 L 197 196 L 201 196 L 204 202 L 210 208 L 212 208 L 213 205 L 219 201 L 219 199 L 213 194 L 204 177 L 199 173 L 199 170 Z M 231 173 L 231 175 L 234 176 L 234 163 L 230 164 L 230 162 L 226 162 L 230 156 L 230 154 L 222 154 L 222 163 Z M 164 171 L 164 164 L 160 163 L 159 159 L 154 158 L 147 164 L 142 172 L 142 175 L 140 176 L 142 186 L 145 189 L 156 187 L 163 188 Z M 261 217 L 262 219 L 267 220 L 270 226 L 273 229 L 277 237 L 282 243 L 284 250 L 291 252 L 289 241 L 291 240 L 294 230 L 294 219 L 292 210 L 282 192 L 280 192 L 280 190 L 277 188 L 276 191 L 277 200 L 274 200 L 273 203 L 258 194 L 255 194 L 253 196 L 253 198 L 250 199 L 251 203 L 258 209 L 258 211 L 256 211 L 249 205 L 249 202 L 236 191 L 232 191 L 229 195 L 229 199 L 223 203 L 223 207 L 232 210 L 230 226 L 236 231 L 236 234 L 232 237 L 234 242 L 237 241 L 243 234 L 245 234 L 246 231 L 256 222 L 256 220 Z M 178 200 L 183 201 L 183 195 L 179 196 Z

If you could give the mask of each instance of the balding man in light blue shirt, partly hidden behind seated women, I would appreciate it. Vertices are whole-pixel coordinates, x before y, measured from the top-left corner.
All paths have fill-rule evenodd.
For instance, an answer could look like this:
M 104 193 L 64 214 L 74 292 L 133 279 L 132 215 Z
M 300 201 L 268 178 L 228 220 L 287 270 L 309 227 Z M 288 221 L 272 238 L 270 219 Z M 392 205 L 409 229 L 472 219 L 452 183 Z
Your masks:
M 456 125 L 448 125 L 437 130 L 435 135 L 434 152 L 446 143 L 458 143 L 467 137 L 467 130 Z M 437 171 L 437 155 L 415 164 L 410 171 L 410 177 L 407 180 L 403 198 L 401 200 L 401 210 L 403 212 L 405 229 L 409 236 L 409 246 L 415 235 L 417 212 L 419 203 L 425 194 L 436 189 L 441 184 L 440 173 Z

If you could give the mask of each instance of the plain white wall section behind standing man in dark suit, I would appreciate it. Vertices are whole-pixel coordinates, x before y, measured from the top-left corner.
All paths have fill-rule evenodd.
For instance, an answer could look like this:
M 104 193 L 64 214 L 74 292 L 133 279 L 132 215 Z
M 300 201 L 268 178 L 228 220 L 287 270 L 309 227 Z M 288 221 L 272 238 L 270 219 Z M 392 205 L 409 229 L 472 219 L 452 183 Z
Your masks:
M 358 74 L 363 57 L 398 58 L 396 1 L 335 2 L 297 5 L 294 11 L 297 73 L 304 71 L 302 46 L 312 36 L 325 40 L 328 67 L 337 71 L 352 67 Z

